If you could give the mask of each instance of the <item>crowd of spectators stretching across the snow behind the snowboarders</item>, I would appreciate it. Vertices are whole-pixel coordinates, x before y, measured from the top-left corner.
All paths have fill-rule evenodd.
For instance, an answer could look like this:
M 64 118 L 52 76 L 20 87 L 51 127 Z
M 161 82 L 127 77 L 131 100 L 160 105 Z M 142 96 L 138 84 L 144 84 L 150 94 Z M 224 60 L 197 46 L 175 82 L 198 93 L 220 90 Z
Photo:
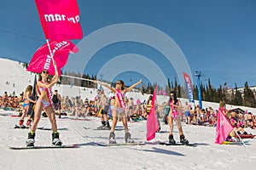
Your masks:
M 22 100 L 23 94 L 15 96 L 8 95 L 7 92 L 4 92 L 3 96 L 0 96 L 0 108 L 3 108 L 4 110 L 21 111 Z M 110 105 L 110 99 L 108 103 Z M 127 105 L 125 112 L 127 114 L 128 121 L 134 122 L 147 120 L 147 101 L 140 101 L 139 99 L 135 101 L 132 98 L 125 98 L 125 103 Z M 166 122 L 166 115 L 169 113 L 169 106 L 166 105 L 166 103 L 156 105 L 155 107 L 156 113 L 161 122 Z M 79 96 L 71 98 L 68 96 L 61 97 L 61 112 L 67 112 L 69 115 L 77 117 L 97 116 L 100 114 L 100 110 L 99 96 L 96 96 L 94 100 L 87 98 L 81 99 Z M 110 113 L 111 118 L 111 111 L 108 112 Z M 196 105 L 195 109 L 193 109 L 186 102 L 179 111 L 179 115 L 181 120 L 187 124 L 216 127 L 218 120 L 218 108 L 215 108 L 215 110 L 213 110 L 212 107 L 200 109 L 199 105 Z M 239 126 L 241 127 L 251 127 L 256 129 L 256 115 L 253 115 L 251 112 L 231 110 L 228 111 L 227 118 L 230 122 L 235 118 L 236 122 L 239 122 Z

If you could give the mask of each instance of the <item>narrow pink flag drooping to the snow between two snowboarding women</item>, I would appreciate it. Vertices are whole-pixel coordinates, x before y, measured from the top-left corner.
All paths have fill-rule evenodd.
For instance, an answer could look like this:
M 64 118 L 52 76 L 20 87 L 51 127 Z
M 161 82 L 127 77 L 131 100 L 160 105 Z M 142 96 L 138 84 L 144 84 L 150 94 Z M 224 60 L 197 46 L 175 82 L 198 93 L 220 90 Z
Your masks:
M 157 87 L 154 88 L 154 94 L 152 97 L 152 104 L 151 104 L 152 106 L 151 106 L 150 112 L 148 114 L 148 119 L 147 119 L 147 141 L 154 139 L 155 132 L 159 128 L 159 124 L 157 121 L 157 116 L 156 116 L 155 108 L 154 108 L 156 91 L 157 91 Z

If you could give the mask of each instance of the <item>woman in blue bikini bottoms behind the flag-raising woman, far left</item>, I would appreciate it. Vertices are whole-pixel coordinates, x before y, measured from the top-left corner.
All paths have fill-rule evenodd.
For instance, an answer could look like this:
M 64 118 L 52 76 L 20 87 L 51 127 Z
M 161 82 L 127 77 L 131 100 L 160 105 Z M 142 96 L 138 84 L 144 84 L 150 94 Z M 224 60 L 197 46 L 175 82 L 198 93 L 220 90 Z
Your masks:
M 25 118 L 26 113 L 29 109 L 30 103 L 36 103 L 36 101 L 32 100 L 31 97 L 32 97 L 32 85 L 28 85 L 26 87 L 26 91 L 25 91 L 25 94 L 24 94 L 23 105 L 22 105 L 22 115 L 20 117 L 19 126 L 17 126 L 19 128 L 26 128 L 26 127 L 29 127 L 31 125 L 32 119 L 31 119 L 30 115 L 27 117 L 26 126 L 23 124 L 24 118 Z

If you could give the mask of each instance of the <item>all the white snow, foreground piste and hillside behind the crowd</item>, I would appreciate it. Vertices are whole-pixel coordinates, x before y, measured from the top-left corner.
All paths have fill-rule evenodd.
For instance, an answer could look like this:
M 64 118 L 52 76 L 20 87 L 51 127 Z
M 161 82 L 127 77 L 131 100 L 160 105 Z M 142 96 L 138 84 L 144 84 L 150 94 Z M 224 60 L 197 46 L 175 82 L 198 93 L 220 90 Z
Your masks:
M 33 75 L 26 72 L 21 64 L 8 59 L 0 61 L 1 92 L 20 94 L 28 83 L 33 82 Z M 8 83 L 9 82 L 9 85 Z M 15 84 L 15 86 L 13 86 Z M 55 86 L 61 95 L 93 99 L 96 89 L 71 86 Z M 1 95 L 1 94 L 0 94 Z M 134 99 L 148 99 L 140 93 L 127 94 Z M 166 96 L 157 97 L 159 103 L 166 101 Z M 182 99 L 184 102 L 186 99 Z M 218 108 L 218 104 L 203 102 Z M 228 109 L 230 109 L 228 105 Z M 236 106 L 232 106 L 234 108 Z M 253 108 L 244 108 L 255 114 Z M 188 125 L 183 123 L 183 132 L 191 146 L 165 146 L 160 144 L 126 145 L 103 147 L 95 143 L 108 143 L 108 130 L 95 130 L 101 125 L 99 117 L 88 116 L 74 119 L 73 116 L 56 118 L 60 138 L 63 144 L 79 144 L 73 149 L 45 150 L 10 150 L 9 146 L 26 146 L 29 129 L 15 129 L 19 121 L 15 111 L 0 110 L 0 169 L 254 169 L 256 167 L 256 139 L 247 140 L 246 146 L 214 144 L 215 127 Z M 137 142 L 146 139 L 146 121 L 128 122 L 131 137 Z M 47 117 L 42 116 L 38 127 L 50 128 Z M 125 131 L 118 122 L 115 131 L 118 143 L 124 143 Z M 168 139 L 168 125 L 161 122 L 161 133 L 156 133 L 154 141 Z M 246 128 L 248 133 L 255 130 Z M 174 127 L 174 139 L 179 140 L 177 127 Z M 51 131 L 36 132 L 36 145 L 51 145 Z

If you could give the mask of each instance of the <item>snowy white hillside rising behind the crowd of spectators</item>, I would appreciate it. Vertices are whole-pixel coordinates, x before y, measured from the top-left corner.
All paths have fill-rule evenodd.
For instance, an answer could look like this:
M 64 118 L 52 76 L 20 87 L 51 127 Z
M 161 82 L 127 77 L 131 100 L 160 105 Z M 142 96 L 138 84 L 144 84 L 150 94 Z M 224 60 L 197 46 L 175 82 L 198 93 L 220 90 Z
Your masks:
M 23 68 L 22 63 L 10 59 L 0 58 L 0 77 L 0 95 L 3 95 L 4 92 L 8 92 L 8 94 L 12 94 L 15 92 L 16 95 L 19 95 L 20 93 L 25 91 L 27 85 L 32 85 L 34 81 L 33 73 L 26 71 L 26 69 Z M 9 82 L 9 84 L 7 84 L 6 82 Z M 52 89 L 57 89 L 59 94 L 65 97 L 68 96 L 69 98 L 81 96 L 82 99 L 87 98 L 93 100 L 96 97 L 95 88 L 82 88 L 72 85 L 55 85 Z M 107 97 L 113 95 L 111 92 L 109 92 L 108 88 L 103 89 Z M 138 92 L 131 91 L 130 93 L 127 93 L 126 96 L 128 98 L 133 98 L 134 102 L 136 102 L 137 99 L 143 102 L 144 100 L 148 100 L 149 94 L 141 94 Z M 159 104 L 163 104 L 167 100 L 168 96 L 157 95 L 157 101 Z M 187 100 L 188 99 L 181 99 L 182 104 L 184 104 L 184 102 Z M 195 105 L 198 105 L 198 101 L 195 101 Z M 212 106 L 213 109 L 218 109 L 218 103 L 203 101 L 202 105 L 203 108 L 208 108 L 209 106 Z M 241 108 L 244 111 L 250 111 L 254 115 L 256 114 L 255 108 L 237 105 L 227 105 L 227 109 L 229 110 L 235 109 L 237 107 Z

